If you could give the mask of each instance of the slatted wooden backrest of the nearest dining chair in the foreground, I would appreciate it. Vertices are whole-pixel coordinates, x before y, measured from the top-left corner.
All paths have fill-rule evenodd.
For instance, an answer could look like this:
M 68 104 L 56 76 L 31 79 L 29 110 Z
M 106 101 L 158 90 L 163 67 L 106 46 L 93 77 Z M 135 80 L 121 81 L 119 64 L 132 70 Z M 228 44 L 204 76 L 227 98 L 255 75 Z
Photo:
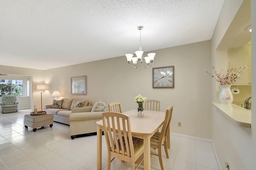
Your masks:
M 132 142 L 132 133 L 130 127 L 130 117 L 114 112 L 102 113 L 104 133 L 107 143 L 108 152 L 116 152 L 122 155 L 134 156 L 134 146 Z M 120 138 L 120 147 L 118 138 Z

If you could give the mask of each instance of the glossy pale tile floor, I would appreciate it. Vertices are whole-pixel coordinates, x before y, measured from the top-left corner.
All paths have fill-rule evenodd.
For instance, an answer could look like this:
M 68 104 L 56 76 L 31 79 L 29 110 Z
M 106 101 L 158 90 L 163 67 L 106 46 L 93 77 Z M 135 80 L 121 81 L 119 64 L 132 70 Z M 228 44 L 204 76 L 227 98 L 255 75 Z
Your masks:
M 29 113 L 29 111 L 28 111 Z M 0 170 L 96 170 L 96 135 L 70 138 L 69 126 L 24 128 L 25 114 L 0 117 Z M 103 139 L 102 170 L 107 169 Z M 171 135 L 170 158 L 163 150 L 165 170 L 218 170 L 211 143 Z M 152 149 L 152 152 L 157 150 Z M 151 155 L 151 169 L 160 170 L 157 156 Z M 111 170 L 129 170 L 130 164 L 115 159 Z M 138 170 L 143 169 L 143 162 Z

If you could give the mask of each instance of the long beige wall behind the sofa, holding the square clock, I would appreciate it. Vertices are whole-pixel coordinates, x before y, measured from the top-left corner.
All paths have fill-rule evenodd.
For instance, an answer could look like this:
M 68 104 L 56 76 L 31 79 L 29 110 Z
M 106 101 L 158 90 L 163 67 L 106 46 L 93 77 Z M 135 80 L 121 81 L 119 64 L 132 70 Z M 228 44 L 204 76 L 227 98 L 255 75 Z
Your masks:
M 210 134 L 210 41 L 155 50 L 152 67 L 174 65 L 174 88 L 153 89 L 152 67 L 128 66 L 125 56 L 44 71 L 48 91 L 44 103 L 51 104 L 54 90 L 62 97 L 102 99 L 106 104 L 120 101 L 122 110 L 136 109 L 138 94 L 161 101 L 161 111 L 174 106 L 171 132 L 211 138 Z M 145 52 L 147 53 L 147 52 Z M 70 95 L 70 77 L 87 75 L 87 95 Z M 61 97 L 59 97 L 61 99 Z M 136 114 L 136 113 L 134 113 Z M 182 127 L 178 127 L 178 122 Z

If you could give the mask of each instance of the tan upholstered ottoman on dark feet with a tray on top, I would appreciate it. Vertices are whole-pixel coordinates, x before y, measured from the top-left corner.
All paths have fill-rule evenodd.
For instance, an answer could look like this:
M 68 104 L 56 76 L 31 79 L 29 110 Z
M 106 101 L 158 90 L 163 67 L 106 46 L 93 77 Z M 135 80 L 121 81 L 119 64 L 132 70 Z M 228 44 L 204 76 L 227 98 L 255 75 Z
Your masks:
M 44 127 L 46 125 L 53 125 L 53 114 L 45 114 L 45 115 L 36 115 L 31 116 L 30 114 L 24 115 L 24 125 L 25 128 L 31 127 L 33 131 L 36 132 L 37 127 Z

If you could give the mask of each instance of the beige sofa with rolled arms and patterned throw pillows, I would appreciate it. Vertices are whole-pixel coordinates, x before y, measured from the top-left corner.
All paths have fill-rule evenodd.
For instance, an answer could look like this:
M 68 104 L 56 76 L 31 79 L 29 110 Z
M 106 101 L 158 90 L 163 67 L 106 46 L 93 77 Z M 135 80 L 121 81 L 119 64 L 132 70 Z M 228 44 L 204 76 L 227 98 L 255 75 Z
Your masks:
M 93 106 L 88 100 L 62 100 L 61 109 L 51 108 L 55 106 L 54 102 L 52 105 L 44 105 L 44 109 L 46 113 L 54 115 L 55 122 L 70 125 L 71 139 L 74 139 L 78 134 L 96 132 L 96 122 L 102 119 L 104 111 L 108 111 L 107 105 L 99 99 Z M 82 107 L 75 107 L 79 102 L 82 103 Z

